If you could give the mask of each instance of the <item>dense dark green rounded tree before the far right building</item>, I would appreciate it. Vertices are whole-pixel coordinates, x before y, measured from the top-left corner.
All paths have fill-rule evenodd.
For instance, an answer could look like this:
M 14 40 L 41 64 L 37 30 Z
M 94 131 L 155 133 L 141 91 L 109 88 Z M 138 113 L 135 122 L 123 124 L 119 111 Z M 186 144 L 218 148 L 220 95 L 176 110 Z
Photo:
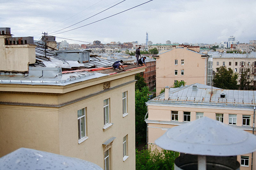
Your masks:
M 237 85 L 238 74 L 233 73 L 231 68 L 226 69 L 225 66 L 217 68 L 213 78 L 214 87 L 222 89 L 238 89 Z

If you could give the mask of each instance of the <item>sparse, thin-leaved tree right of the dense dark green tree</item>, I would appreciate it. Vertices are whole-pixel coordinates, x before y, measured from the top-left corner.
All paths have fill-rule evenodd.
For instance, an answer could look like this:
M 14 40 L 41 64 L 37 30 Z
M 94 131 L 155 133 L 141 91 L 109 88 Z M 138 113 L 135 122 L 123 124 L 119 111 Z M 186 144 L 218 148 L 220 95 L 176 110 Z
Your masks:
M 250 64 L 244 64 L 244 69 L 242 71 L 242 68 L 241 68 L 241 76 L 240 76 L 240 80 L 239 80 L 239 83 L 240 83 L 240 89 L 241 90 L 251 90 L 251 83 L 252 83 L 252 79 L 251 79 L 251 75 L 252 75 L 252 65 Z

